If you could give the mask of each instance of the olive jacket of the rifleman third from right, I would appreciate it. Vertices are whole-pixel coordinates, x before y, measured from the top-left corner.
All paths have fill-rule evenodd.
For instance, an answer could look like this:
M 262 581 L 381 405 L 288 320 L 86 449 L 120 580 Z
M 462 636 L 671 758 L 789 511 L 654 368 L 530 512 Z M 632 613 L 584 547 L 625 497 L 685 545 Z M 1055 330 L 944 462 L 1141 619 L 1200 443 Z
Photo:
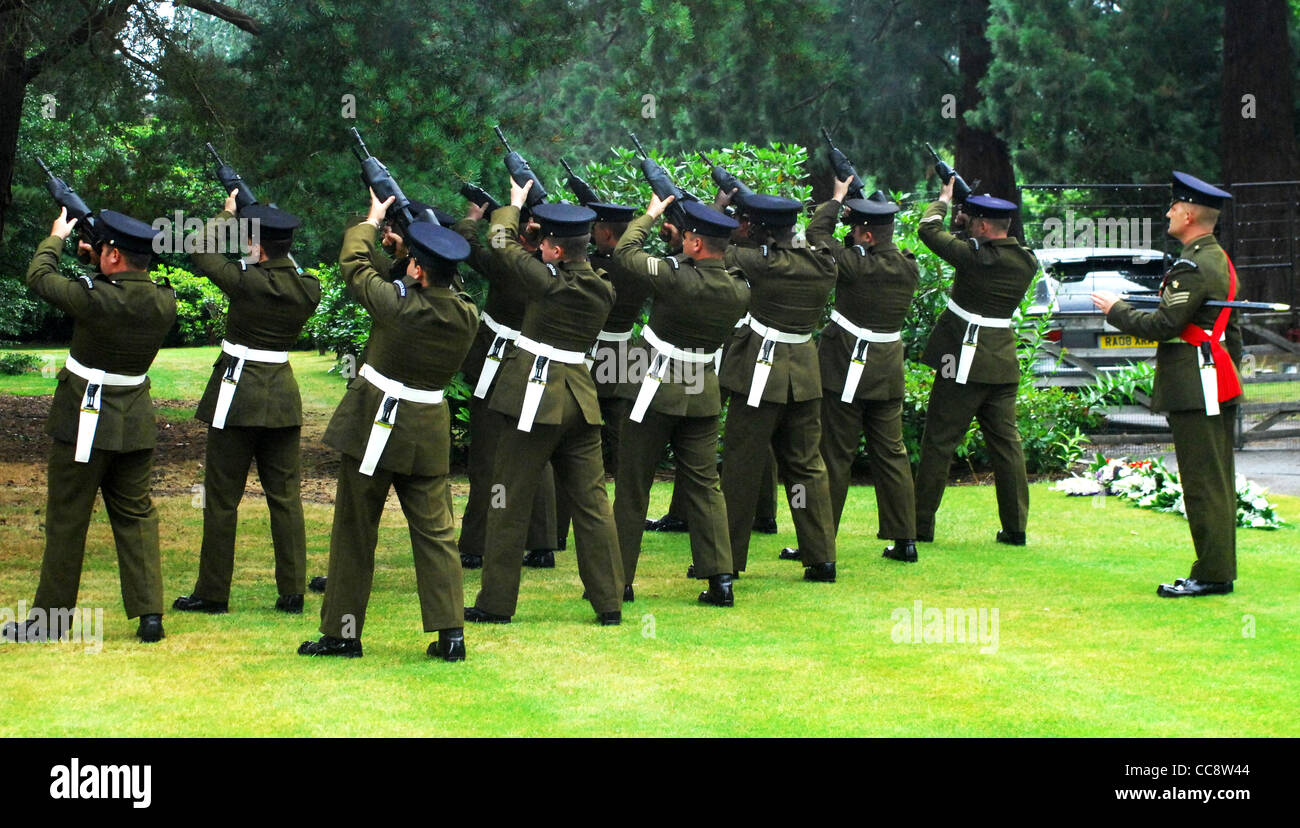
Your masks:
M 738 268 L 749 279 L 751 317 L 785 333 L 812 333 L 822 322 L 827 298 L 835 287 L 835 256 L 823 244 L 731 246 L 727 266 Z M 719 382 L 737 394 L 749 394 L 754 360 L 763 344 L 753 328 L 742 325 L 732 334 Z M 772 370 L 763 387 L 768 403 L 802 403 L 822 398 L 822 372 L 816 343 L 777 343 L 772 351 Z

